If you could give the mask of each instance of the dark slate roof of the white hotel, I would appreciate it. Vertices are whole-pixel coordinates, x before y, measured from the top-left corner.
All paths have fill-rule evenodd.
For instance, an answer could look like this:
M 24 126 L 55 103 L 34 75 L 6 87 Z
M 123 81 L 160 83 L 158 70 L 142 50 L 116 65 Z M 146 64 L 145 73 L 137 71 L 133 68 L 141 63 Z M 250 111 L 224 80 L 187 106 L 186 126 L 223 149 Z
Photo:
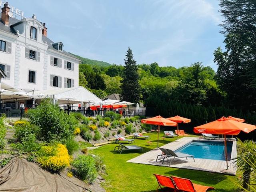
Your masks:
M 1 14 L 0 14 L 0 18 L 1 18 Z M 10 33 L 10 34 L 16 34 L 16 32 L 15 32 L 15 30 L 14 30 L 14 28 L 12 28 L 12 26 L 16 26 L 17 24 L 20 24 L 20 23 L 22 23 L 20 20 L 18 20 L 18 19 L 16 19 L 16 18 L 9 18 L 9 26 L 6 26 L 4 23 L 2 23 L 2 21 L 0 21 L 0 30 L 3 30 L 3 31 L 5 31 L 5 32 L 8 32 L 8 33 Z M 52 40 L 50 40 L 49 38 L 47 38 L 46 36 L 44 36 L 44 35 L 42 35 L 42 41 L 43 42 L 47 42 L 47 44 L 48 44 L 48 49 L 51 49 L 51 50 L 56 50 L 53 46 L 52 46 L 52 44 L 54 44 L 54 42 L 52 41 Z M 59 43 L 59 42 L 57 42 L 57 43 Z M 56 50 L 56 51 L 58 51 L 58 50 Z M 79 60 L 79 58 L 77 58 L 76 56 L 74 56 L 74 55 L 72 55 L 72 54 L 70 54 L 70 53 L 68 53 L 68 52 L 66 52 L 66 51 L 62 51 L 62 52 L 60 52 L 60 53 L 62 53 L 62 54 L 65 54 L 65 55 L 67 55 L 67 56 L 70 56 L 70 57 L 72 57 L 72 58 L 76 58 L 76 59 L 78 59 Z

